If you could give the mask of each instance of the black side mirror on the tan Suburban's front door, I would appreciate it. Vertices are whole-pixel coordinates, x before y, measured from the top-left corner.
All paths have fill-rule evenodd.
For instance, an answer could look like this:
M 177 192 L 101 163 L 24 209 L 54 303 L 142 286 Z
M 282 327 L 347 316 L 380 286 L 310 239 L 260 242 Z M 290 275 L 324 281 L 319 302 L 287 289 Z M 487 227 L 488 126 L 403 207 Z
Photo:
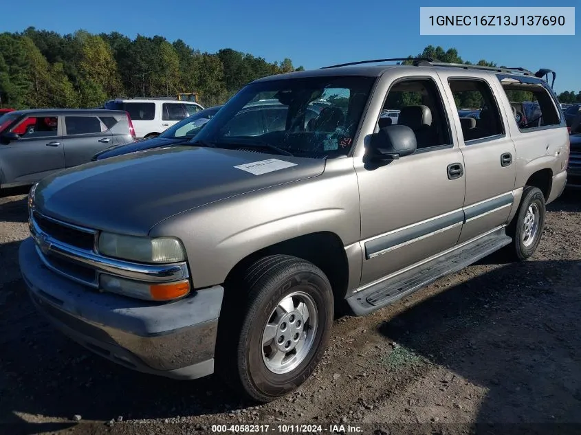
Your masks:
M 408 126 L 395 124 L 380 129 L 370 137 L 369 158 L 375 161 L 397 160 L 415 153 L 415 133 Z

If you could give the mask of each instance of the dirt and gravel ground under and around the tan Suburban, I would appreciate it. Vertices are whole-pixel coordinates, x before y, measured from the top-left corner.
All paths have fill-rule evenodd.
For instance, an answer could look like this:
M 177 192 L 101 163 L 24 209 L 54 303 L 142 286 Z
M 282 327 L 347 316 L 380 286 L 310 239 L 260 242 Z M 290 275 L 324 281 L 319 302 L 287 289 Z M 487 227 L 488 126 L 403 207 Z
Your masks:
M 578 192 L 549 206 L 534 258 L 487 258 L 369 317 L 337 320 L 316 375 L 257 407 L 215 377 L 180 383 L 131 372 L 53 331 L 19 276 L 25 222 L 23 195 L 0 199 L 0 433 L 201 434 L 241 422 L 581 433 Z

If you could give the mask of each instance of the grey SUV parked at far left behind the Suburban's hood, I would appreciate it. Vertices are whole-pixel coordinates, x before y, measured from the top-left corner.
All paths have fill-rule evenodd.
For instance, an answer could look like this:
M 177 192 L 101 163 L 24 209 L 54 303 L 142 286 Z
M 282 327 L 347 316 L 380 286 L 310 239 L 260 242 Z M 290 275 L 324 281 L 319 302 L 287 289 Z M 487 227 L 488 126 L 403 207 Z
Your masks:
M 133 140 L 131 118 L 123 111 L 6 113 L 0 117 L 0 188 L 30 185 L 53 172 L 87 163 L 111 144 Z

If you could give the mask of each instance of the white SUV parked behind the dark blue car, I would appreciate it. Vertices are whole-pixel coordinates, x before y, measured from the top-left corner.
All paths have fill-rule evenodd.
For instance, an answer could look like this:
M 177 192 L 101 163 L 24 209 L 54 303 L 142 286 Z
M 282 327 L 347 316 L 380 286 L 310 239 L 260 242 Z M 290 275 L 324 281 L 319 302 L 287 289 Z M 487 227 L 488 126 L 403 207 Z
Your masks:
M 104 107 L 129 113 L 138 139 L 159 136 L 176 122 L 204 110 L 197 102 L 178 101 L 175 98 L 116 99 L 107 101 Z

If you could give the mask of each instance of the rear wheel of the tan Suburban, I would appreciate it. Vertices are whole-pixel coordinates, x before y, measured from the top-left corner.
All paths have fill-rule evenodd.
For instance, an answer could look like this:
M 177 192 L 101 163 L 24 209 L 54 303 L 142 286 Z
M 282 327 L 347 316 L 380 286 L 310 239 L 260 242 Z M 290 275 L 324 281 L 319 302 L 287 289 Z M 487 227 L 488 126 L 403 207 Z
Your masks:
M 534 254 L 545 227 L 545 213 L 545 195 L 536 187 L 525 186 L 516 215 L 507 227 L 512 243 L 506 252 L 512 260 L 527 260 Z

